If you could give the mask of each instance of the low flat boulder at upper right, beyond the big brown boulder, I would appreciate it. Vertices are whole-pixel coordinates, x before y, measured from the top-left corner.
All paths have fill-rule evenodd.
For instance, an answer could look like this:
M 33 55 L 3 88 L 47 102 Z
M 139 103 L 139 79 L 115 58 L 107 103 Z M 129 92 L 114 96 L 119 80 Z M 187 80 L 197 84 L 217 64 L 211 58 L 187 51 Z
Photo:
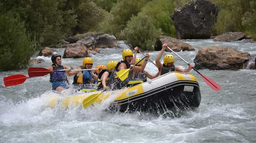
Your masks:
M 243 40 L 246 39 L 246 34 L 244 34 L 243 32 L 226 32 L 222 35 L 218 35 L 216 36 L 213 41 L 239 41 L 239 40 Z

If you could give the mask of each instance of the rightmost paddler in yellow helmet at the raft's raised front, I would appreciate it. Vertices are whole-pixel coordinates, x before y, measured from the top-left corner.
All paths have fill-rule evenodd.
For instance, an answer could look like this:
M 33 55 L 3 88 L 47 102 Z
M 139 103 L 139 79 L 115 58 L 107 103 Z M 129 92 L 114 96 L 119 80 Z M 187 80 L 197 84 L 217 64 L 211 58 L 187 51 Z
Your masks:
M 162 50 L 158 53 L 157 57 L 156 57 L 156 65 L 158 67 L 158 70 L 160 71 L 160 75 L 166 74 L 168 72 L 190 72 L 192 70 L 192 68 L 194 67 L 192 64 L 189 64 L 187 69 L 184 69 L 180 66 L 175 66 L 174 62 L 174 56 L 171 54 L 167 54 L 164 56 L 164 63 L 161 64 L 160 62 L 160 58 L 162 57 L 164 51 L 166 50 L 166 48 L 168 47 L 167 43 L 164 43 L 162 46 Z

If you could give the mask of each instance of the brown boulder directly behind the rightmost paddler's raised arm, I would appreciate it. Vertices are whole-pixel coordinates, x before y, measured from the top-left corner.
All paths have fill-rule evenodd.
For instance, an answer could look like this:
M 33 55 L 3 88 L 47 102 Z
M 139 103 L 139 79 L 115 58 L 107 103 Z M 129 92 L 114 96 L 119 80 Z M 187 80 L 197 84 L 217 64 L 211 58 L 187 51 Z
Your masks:
M 180 41 L 178 39 L 172 38 L 172 37 L 168 37 L 168 36 L 163 36 L 160 35 L 159 38 L 157 39 L 157 47 L 156 50 L 161 50 L 162 49 L 162 45 L 164 43 L 168 43 L 169 47 L 174 50 L 174 51 L 194 51 L 195 49 L 189 45 L 188 43 L 185 43 L 183 41 Z M 169 50 L 169 49 L 167 49 Z

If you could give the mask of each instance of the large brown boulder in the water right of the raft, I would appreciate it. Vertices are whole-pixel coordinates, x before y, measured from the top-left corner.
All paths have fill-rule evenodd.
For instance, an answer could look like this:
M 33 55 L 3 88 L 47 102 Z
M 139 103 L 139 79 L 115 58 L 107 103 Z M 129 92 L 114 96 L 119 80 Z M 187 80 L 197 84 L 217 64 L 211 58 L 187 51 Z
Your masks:
M 200 47 L 194 63 L 196 69 L 239 70 L 249 61 L 248 56 L 248 52 L 226 47 Z

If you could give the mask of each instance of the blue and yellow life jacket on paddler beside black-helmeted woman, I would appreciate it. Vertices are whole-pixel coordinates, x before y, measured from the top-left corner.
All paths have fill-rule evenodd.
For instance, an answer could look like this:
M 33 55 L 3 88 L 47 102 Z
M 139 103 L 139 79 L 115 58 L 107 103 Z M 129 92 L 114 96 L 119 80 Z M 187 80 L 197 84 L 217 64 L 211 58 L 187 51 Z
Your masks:
M 83 68 L 84 69 L 84 68 Z M 90 84 L 92 79 L 91 71 L 82 71 L 80 76 L 75 75 L 73 78 L 73 84 Z

